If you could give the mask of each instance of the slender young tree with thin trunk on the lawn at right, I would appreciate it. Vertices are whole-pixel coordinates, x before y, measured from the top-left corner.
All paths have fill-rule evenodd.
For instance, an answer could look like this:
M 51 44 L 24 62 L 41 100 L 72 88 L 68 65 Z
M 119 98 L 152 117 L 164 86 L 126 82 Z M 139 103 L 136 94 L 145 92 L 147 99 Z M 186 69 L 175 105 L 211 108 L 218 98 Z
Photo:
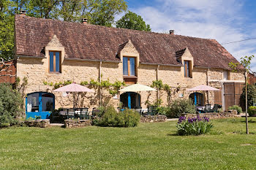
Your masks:
M 244 58 L 241 58 L 240 63 L 233 63 L 230 62 L 228 63 L 228 65 L 230 66 L 230 68 L 232 69 L 233 72 L 241 72 L 242 74 L 244 74 L 244 82 L 245 82 L 245 117 L 246 117 L 246 134 L 249 134 L 249 128 L 248 128 L 248 117 L 247 117 L 247 77 L 248 77 L 248 73 L 249 73 L 249 69 L 250 69 L 250 65 L 251 65 L 251 60 L 252 58 L 254 58 L 254 55 L 251 56 L 245 56 Z

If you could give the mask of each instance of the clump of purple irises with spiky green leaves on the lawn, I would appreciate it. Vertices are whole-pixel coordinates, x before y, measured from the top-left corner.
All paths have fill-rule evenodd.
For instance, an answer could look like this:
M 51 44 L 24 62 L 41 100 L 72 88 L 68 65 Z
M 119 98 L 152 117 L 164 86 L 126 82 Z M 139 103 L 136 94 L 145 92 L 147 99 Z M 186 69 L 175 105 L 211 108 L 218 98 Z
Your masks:
M 208 117 L 200 118 L 200 116 L 194 118 L 179 117 L 177 127 L 178 135 L 200 135 L 206 134 L 213 128 L 212 123 L 209 123 Z

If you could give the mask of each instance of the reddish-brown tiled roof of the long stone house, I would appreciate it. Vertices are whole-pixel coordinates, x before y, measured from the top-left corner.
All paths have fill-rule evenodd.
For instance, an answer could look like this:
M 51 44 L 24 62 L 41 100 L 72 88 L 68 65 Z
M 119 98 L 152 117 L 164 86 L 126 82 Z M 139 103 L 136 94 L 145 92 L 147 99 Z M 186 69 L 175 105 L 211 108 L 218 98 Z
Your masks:
M 159 34 L 121 28 L 108 28 L 83 23 L 15 16 L 17 55 L 44 56 L 43 50 L 53 35 L 65 47 L 67 58 L 120 61 L 120 45 L 129 39 L 140 53 L 140 62 L 175 64 L 176 51 L 189 48 L 195 66 L 229 69 L 230 61 L 238 62 L 214 39 Z

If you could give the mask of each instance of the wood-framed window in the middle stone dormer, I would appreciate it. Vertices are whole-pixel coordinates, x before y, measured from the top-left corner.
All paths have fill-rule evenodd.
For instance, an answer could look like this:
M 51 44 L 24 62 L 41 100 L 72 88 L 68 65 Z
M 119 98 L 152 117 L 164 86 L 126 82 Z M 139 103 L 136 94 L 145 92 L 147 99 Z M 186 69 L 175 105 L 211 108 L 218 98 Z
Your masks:
M 135 76 L 135 58 L 123 57 L 123 74 L 126 76 Z

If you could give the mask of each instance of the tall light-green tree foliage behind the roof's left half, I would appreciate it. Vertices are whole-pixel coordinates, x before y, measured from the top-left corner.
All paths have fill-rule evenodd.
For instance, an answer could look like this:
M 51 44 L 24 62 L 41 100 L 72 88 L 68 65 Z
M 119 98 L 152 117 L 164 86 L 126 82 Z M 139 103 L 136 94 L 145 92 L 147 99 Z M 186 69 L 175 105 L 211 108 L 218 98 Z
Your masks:
M 112 26 L 114 18 L 127 9 L 124 0 L 0 0 L 0 58 L 13 58 L 14 18 L 21 9 L 37 18 Z

